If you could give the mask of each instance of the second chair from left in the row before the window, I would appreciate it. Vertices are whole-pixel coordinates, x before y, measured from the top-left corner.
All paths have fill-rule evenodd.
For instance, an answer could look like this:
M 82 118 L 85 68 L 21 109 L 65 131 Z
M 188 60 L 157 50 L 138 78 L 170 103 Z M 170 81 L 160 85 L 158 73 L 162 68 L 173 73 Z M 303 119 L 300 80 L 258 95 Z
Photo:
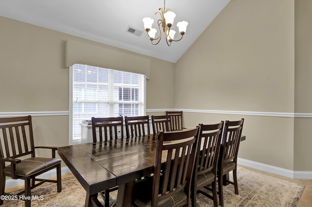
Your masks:
M 125 117 L 127 138 L 150 134 L 149 116 Z

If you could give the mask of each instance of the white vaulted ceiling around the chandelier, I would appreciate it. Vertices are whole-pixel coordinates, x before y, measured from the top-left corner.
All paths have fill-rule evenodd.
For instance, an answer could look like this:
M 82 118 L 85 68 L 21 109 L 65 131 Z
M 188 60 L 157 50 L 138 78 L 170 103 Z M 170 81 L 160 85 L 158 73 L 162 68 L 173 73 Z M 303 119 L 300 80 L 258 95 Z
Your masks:
M 164 37 L 152 45 L 142 22 L 152 17 L 156 27 L 160 16 L 155 13 L 164 7 L 163 0 L 0 0 L 0 16 L 175 63 L 229 1 L 167 0 L 166 9 L 176 13 L 177 37 L 176 23 L 189 23 L 183 39 L 170 47 Z M 129 33 L 129 27 L 143 34 Z

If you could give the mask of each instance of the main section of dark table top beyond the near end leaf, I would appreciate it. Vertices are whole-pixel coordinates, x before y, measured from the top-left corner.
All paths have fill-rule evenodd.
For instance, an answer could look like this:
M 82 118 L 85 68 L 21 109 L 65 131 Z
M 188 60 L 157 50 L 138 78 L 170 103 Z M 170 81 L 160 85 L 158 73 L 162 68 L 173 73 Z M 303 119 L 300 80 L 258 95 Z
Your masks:
M 117 177 L 117 185 L 149 175 L 154 171 L 156 137 L 146 135 L 96 144 L 76 145 L 98 165 Z

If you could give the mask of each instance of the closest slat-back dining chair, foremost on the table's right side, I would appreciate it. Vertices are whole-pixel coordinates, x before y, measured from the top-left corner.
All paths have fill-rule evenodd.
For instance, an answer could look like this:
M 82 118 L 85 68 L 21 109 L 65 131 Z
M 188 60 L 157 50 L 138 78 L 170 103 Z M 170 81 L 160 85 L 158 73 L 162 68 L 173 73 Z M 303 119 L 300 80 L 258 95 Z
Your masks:
M 158 131 L 154 176 L 136 181 L 133 206 L 190 206 L 198 134 L 199 126 L 183 131 Z

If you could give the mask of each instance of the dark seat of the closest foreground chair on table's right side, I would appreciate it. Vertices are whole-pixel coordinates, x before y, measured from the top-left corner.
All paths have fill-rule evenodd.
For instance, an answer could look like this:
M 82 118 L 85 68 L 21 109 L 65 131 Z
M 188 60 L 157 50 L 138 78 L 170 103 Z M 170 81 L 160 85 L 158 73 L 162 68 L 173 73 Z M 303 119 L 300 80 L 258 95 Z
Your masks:
M 134 187 L 134 203 L 138 207 L 151 207 L 153 178 L 138 180 Z M 183 190 L 158 202 L 157 207 L 175 207 L 187 199 Z

